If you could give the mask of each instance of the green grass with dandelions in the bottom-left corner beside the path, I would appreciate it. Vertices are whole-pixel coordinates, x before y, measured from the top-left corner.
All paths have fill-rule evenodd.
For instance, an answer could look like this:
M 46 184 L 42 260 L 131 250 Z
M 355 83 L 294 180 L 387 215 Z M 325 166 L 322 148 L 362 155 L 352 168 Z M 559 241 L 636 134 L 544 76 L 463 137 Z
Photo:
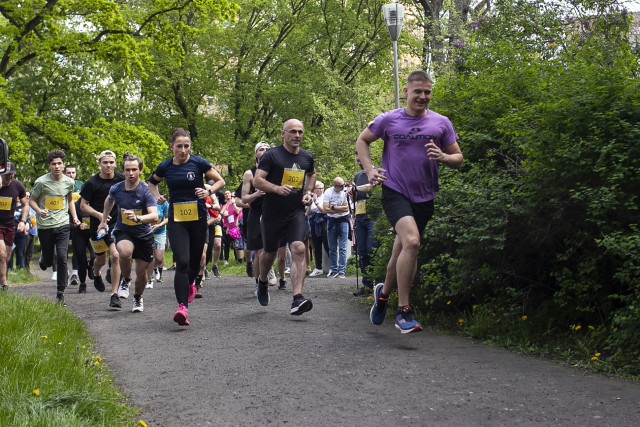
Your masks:
M 0 425 L 132 426 L 82 321 L 54 303 L 0 292 Z

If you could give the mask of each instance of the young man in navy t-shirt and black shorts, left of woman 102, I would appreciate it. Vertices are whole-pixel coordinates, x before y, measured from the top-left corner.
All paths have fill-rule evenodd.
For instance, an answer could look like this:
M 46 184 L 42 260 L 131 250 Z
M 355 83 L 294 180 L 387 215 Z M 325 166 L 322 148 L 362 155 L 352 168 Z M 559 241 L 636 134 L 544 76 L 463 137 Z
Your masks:
M 122 281 L 131 282 L 132 261 L 136 261 L 136 281 L 133 294 L 133 313 L 144 311 L 142 294 L 147 283 L 147 269 L 153 261 L 153 230 L 151 223 L 158 219 L 156 198 L 149 187 L 140 181 L 142 159 L 136 155 L 125 155 L 122 169 L 125 180 L 109 190 L 104 202 L 102 221 L 98 231 L 108 231 L 108 213 L 118 206 L 118 219 L 113 230 L 116 249 L 120 258 Z

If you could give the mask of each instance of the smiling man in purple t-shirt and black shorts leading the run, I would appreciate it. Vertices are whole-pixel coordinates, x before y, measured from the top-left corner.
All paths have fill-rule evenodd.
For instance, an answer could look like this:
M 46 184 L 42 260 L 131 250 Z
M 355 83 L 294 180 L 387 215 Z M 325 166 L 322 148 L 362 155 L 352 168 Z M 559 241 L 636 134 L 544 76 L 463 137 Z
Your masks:
M 356 142 L 364 172 L 372 186 L 382 184 L 382 207 L 396 232 L 384 284 L 374 288 L 371 321 L 385 318 L 389 293 L 398 286 L 396 328 L 403 334 L 422 330 L 413 319 L 409 290 L 416 275 L 420 237 L 433 215 L 438 191 L 438 163 L 462 165 L 458 135 L 448 118 L 427 108 L 433 81 L 424 71 L 414 71 L 402 89 L 407 106 L 380 114 Z M 382 167 L 371 163 L 369 145 L 384 141 Z

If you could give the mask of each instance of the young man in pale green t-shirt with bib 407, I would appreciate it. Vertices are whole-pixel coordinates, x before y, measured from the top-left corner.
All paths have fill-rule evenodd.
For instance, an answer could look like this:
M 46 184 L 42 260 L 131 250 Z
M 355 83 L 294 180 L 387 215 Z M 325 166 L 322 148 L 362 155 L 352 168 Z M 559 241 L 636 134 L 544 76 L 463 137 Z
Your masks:
M 61 150 L 47 154 L 50 172 L 42 175 L 33 184 L 29 204 L 36 211 L 38 238 L 40 239 L 40 268 L 46 270 L 55 261 L 57 264 L 56 301 L 64 304 L 64 290 L 67 287 L 67 250 L 69 249 L 69 214 L 73 224 L 79 225 L 73 203 L 71 178 L 64 175 L 64 159 Z M 53 259 L 54 248 L 56 259 Z

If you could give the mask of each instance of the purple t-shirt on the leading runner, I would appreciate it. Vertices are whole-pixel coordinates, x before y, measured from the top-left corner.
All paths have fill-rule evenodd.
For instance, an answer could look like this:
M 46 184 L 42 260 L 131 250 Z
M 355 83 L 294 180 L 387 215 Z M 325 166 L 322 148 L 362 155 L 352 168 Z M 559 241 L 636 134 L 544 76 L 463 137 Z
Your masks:
M 438 162 L 429 160 L 425 145 L 430 139 L 444 150 L 458 140 L 451 121 L 434 111 L 410 116 L 404 108 L 382 113 L 369 125 L 369 130 L 384 141 L 382 168 L 385 186 L 404 194 L 414 203 L 436 197 Z

